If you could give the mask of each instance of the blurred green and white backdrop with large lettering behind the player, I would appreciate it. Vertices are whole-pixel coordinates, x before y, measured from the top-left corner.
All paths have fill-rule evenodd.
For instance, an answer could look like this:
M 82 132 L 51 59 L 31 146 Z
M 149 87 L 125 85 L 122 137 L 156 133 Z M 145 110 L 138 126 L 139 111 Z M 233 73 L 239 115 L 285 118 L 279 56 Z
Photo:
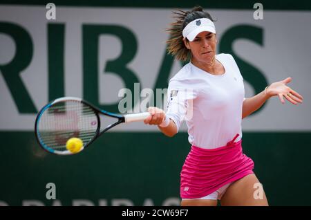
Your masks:
M 261 1 L 263 10 L 253 1 L 129 2 L 53 1 L 53 10 L 48 1 L 0 1 L 0 205 L 179 205 L 185 124 L 173 138 L 122 125 L 68 157 L 41 150 L 34 126 L 39 109 L 62 96 L 117 112 L 129 89 L 128 111 L 145 111 L 147 101 L 164 109 L 156 89 L 183 65 L 166 53 L 165 28 L 171 10 L 196 4 L 217 19 L 218 53 L 236 59 L 246 98 L 286 77 L 304 96 L 299 106 L 271 98 L 245 118 L 243 149 L 270 205 L 311 205 L 310 1 Z

